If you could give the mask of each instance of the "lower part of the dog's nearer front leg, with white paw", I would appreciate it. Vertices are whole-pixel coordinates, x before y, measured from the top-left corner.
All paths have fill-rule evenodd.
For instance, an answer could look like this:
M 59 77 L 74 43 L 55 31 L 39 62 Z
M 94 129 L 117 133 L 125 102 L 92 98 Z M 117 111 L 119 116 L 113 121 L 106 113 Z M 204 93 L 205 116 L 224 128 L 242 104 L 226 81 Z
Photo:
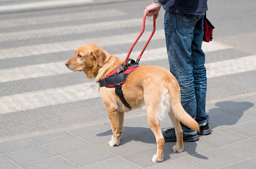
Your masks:
M 109 108 L 107 109 L 107 112 L 108 112 L 108 118 L 110 120 L 112 132 L 113 132 L 112 138 L 108 142 L 108 145 L 118 146 L 120 141 L 118 109 Z

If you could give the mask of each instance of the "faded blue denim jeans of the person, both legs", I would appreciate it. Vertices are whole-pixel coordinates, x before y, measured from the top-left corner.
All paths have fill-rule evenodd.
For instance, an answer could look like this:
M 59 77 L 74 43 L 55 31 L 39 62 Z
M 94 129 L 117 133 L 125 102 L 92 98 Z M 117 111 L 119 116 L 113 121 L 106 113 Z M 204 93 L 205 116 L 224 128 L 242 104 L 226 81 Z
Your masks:
M 203 41 L 203 15 L 166 12 L 164 28 L 170 71 L 181 91 L 181 104 L 199 126 L 209 120 L 205 112 L 207 78 Z M 181 124 L 184 134 L 196 131 Z

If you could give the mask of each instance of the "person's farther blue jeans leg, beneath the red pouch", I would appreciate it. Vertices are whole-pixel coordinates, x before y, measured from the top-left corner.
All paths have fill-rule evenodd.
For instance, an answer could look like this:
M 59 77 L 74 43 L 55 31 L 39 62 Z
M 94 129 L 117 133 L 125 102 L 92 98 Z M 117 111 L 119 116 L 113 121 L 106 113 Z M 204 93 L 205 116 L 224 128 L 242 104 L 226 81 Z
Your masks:
M 193 77 L 196 98 L 196 117 L 195 120 L 199 126 L 204 126 L 209 120 L 209 116 L 205 112 L 207 78 L 205 64 L 205 54 L 201 50 L 203 41 L 203 16 L 200 15 L 195 28 L 193 30 L 194 37 L 191 45 L 191 58 L 193 61 Z

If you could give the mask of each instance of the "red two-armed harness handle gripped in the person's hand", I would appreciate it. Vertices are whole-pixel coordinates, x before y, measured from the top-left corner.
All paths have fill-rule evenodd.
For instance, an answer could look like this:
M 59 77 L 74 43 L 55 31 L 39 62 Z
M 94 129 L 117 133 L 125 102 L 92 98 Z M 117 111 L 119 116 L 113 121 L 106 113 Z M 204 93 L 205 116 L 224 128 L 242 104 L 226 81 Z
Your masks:
M 130 54 L 131 54 L 131 51 L 132 51 L 133 47 L 135 46 L 135 44 L 137 43 L 137 41 L 140 39 L 141 35 L 143 34 L 143 32 L 144 32 L 144 30 L 145 30 L 146 16 L 147 16 L 148 13 L 149 13 L 148 11 L 146 11 L 146 12 L 144 13 L 142 31 L 140 32 L 140 34 L 139 34 L 139 36 L 137 37 L 137 39 L 135 40 L 135 42 L 131 45 L 131 49 L 129 50 L 129 53 L 128 53 L 128 55 L 126 56 L 126 59 L 125 59 L 125 62 L 124 62 L 125 65 L 127 64 L 127 61 L 128 61 L 128 59 L 129 59 L 129 56 L 130 56 Z M 150 35 L 150 37 L 149 37 L 149 39 L 148 39 L 146 45 L 144 46 L 144 48 L 143 48 L 141 54 L 138 56 L 137 61 L 140 60 L 141 55 L 142 55 L 143 52 L 145 51 L 146 47 L 148 46 L 149 41 L 151 40 L 153 34 L 155 33 L 155 15 L 154 15 L 153 17 L 154 17 L 154 29 L 153 29 L 153 32 L 152 32 L 152 34 Z M 136 62 L 137 62 L 137 61 L 136 61 Z

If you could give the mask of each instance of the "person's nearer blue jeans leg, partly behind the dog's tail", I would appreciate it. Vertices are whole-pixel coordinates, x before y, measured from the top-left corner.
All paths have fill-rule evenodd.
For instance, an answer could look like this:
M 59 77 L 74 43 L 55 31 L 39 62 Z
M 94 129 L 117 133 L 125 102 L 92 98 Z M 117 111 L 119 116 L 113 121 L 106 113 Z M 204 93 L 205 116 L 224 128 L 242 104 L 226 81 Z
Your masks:
M 177 79 L 181 90 L 181 104 L 185 111 L 196 118 L 196 98 L 193 77 L 191 44 L 198 15 L 165 13 L 165 35 L 170 71 Z M 194 135 L 196 131 L 181 124 L 183 133 Z

